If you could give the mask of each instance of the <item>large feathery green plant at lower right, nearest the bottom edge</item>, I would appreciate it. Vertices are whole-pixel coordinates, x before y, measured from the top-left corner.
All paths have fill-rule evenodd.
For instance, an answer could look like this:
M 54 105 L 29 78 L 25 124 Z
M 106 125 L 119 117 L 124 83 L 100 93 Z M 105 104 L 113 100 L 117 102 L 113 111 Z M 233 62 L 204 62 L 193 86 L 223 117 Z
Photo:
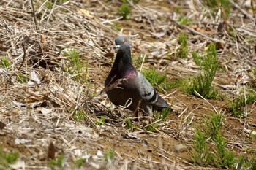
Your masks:
M 193 150 L 189 152 L 194 163 L 200 166 L 233 168 L 236 159 L 234 153 L 226 147 L 221 128 L 222 115 L 220 114 L 211 114 L 203 120 L 203 123 L 197 125 L 197 131 L 192 142 Z

